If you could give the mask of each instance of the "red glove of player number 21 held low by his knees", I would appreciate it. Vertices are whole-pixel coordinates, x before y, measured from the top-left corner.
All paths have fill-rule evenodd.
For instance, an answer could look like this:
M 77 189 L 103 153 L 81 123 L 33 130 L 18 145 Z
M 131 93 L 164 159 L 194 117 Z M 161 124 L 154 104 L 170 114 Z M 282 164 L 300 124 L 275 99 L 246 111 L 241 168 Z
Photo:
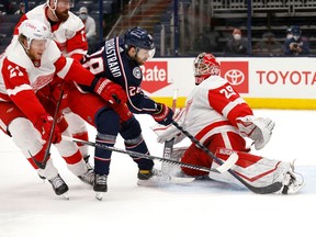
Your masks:
M 44 140 L 47 140 L 49 137 L 50 128 L 53 126 L 53 117 L 48 115 L 42 115 L 37 120 L 35 127 L 40 131 L 42 138 Z M 59 132 L 58 126 L 55 126 L 55 129 L 53 132 L 52 143 L 57 144 L 61 140 L 61 133 Z

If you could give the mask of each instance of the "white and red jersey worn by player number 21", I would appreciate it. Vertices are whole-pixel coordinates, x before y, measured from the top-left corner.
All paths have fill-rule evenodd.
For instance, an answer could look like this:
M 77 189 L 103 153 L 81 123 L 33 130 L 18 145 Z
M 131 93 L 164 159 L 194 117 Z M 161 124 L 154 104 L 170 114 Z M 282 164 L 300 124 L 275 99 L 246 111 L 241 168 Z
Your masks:
M 53 80 L 90 86 L 94 78 L 79 61 L 61 56 L 54 41 L 47 42 L 37 64 L 34 66 L 19 41 L 12 42 L 0 58 L 0 101 L 13 101 L 33 123 L 46 114 L 34 92 Z

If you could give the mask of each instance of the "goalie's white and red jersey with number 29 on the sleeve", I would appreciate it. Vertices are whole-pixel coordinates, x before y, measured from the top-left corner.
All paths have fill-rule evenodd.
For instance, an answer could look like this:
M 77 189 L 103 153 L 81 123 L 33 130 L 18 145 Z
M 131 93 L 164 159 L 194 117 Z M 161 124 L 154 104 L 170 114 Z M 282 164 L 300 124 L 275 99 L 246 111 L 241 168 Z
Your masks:
M 232 84 L 219 76 L 211 76 L 196 86 L 187 98 L 182 126 L 204 143 L 217 133 L 239 134 L 236 119 L 246 115 L 252 115 L 252 110 Z

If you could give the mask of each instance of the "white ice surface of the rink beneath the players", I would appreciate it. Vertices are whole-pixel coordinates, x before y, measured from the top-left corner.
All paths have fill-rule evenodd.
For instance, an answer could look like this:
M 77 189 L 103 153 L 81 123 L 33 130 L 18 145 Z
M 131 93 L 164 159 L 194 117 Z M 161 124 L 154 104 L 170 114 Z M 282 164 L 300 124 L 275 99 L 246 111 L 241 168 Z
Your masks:
M 71 174 L 52 148 L 69 185 L 70 200 L 43 183 L 12 140 L 0 134 L 0 237 L 258 237 L 313 236 L 316 213 L 316 111 L 255 110 L 276 125 L 263 150 L 271 159 L 296 159 L 305 187 L 295 195 L 259 195 L 244 188 L 194 181 L 157 188 L 136 184 L 137 167 L 114 153 L 109 192 L 95 200 L 91 187 Z M 162 145 L 149 129 L 154 120 L 137 116 L 151 155 Z M 91 140 L 95 132 L 90 127 Z M 182 143 L 189 144 L 189 140 Z M 123 148 L 121 137 L 116 147 Z M 90 148 L 93 154 L 93 148 Z M 156 162 L 160 167 L 160 162 Z M 311 217 L 312 216 L 312 217 Z

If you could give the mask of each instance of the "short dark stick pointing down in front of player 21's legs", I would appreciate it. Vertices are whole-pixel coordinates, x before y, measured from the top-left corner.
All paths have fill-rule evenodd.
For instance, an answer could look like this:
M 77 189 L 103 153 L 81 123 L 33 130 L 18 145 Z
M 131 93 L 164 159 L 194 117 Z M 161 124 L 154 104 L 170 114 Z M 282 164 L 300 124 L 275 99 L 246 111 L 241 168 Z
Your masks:
M 52 146 L 52 140 L 53 140 L 54 129 L 55 129 L 56 124 L 57 124 L 57 116 L 58 116 L 59 108 L 60 108 L 60 104 L 61 104 L 63 95 L 64 95 L 64 82 L 63 82 L 63 84 L 60 87 L 60 95 L 59 95 L 57 104 L 56 104 L 56 109 L 55 109 L 55 113 L 54 113 L 54 120 L 53 120 L 53 124 L 52 124 L 52 127 L 50 127 L 50 131 L 49 131 L 49 137 L 48 137 L 48 140 L 47 140 L 47 147 L 46 147 L 46 150 L 45 150 L 45 155 L 44 155 L 43 161 L 41 162 L 41 161 L 36 160 L 35 157 L 33 157 L 31 155 L 31 153 L 29 151 L 29 154 L 32 157 L 32 159 L 35 162 L 35 165 L 38 168 L 41 168 L 41 169 L 45 169 L 47 160 L 49 159 L 49 151 L 50 151 L 50 146 Z

